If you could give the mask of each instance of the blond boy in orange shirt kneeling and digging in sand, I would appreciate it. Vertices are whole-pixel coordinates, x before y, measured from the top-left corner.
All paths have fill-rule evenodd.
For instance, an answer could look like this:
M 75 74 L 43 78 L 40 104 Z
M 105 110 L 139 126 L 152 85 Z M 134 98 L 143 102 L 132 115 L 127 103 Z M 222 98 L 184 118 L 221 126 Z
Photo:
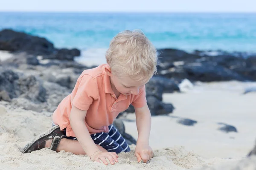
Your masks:
M 135 156 L 145 163 L 152 158 L 145 84 L 157 71 L 156 49 L 142 32 L 123 31 L 111 40 L 106 60 L 107 64 L 83 71 L 72 93 L 54 111 L 53 127 L 29 142 L 23 153 L 47 147 L 115 164 L 117 154 L 130 148 L 112 123 L 133 105 L 138 130 Z

